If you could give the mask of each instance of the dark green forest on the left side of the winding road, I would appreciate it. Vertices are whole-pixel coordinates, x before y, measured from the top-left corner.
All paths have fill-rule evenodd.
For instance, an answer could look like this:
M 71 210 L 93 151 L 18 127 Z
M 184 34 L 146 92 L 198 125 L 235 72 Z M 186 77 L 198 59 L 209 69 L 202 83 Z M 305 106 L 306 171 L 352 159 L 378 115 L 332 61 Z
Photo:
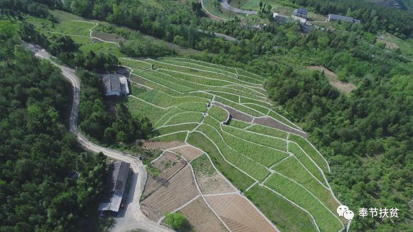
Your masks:
M 95 231 L 105 158 L 65 127 L 71 85 L 23 50 L 18 27 L 0 31 L 0 230 Z

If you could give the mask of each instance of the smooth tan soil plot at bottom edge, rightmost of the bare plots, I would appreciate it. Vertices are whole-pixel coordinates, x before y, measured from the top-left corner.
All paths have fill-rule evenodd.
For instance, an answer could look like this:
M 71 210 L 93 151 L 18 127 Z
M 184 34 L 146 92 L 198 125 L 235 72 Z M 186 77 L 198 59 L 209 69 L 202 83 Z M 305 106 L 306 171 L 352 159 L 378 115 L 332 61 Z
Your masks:
M 276 231 L 270 222 L 239 194 L 206 198 L 231 231 Z

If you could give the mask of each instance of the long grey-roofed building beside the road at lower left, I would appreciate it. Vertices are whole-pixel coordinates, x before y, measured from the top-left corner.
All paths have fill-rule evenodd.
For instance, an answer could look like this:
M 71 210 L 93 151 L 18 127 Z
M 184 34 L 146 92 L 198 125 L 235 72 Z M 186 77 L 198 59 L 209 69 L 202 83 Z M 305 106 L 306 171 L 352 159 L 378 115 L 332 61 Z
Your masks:
M 104 186 L 104 196 L 98 209 L 101 214 L 117 214 L 124 201 L 123 196 L 125 196 L 129 173 L 129 163 L 114 162 L 109 165 L 109 173 Z

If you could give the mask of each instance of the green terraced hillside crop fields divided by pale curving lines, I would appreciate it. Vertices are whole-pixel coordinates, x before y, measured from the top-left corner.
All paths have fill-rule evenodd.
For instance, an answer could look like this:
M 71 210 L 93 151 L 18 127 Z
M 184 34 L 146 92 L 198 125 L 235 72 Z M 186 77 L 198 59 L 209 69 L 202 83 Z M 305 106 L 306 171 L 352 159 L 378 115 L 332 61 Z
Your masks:
M 334 213 L 340 203 L 325 178 L 327 161 L 300 127 L 274 112 L 263 89 L 266 79 L 185 58 L 120 61 L 133 69 L 128 107 L 148 112 L 158 132 L 154 140 L 178 140 L 204 151 L 276 227 L 296 223 L 296 228 L 305 225 L 309 231 L 344 229 L 346 221 Z M 194 169 L 197 174 L 199 168 Z M 265 188 L 265 194 L 252 191 L 257 186 Z M 272 194 L 283 204 L 263 205 L 266 201 L 257 194 Z M 292 220 L 294 215 L 283 211 L 287 207 L 302 216 Z M 271 208 L 285 219 L 274 218 Z

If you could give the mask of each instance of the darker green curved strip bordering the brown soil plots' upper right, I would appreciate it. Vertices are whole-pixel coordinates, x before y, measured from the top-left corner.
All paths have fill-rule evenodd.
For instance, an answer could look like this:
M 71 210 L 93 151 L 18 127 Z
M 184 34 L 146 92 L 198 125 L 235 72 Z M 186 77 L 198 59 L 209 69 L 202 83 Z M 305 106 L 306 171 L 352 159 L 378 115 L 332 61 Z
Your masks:
M 215 145 L 202 133 L 189 133 L 187 142 L 198 147 L 199 149 L 202 149 L 202 151 L 205 151 L 209 157 L 211 157 L 215 167 L 239 190 L 244 191 L 252 185 L 252 183 L 254 183 L 253 179 L 226 162 Z

